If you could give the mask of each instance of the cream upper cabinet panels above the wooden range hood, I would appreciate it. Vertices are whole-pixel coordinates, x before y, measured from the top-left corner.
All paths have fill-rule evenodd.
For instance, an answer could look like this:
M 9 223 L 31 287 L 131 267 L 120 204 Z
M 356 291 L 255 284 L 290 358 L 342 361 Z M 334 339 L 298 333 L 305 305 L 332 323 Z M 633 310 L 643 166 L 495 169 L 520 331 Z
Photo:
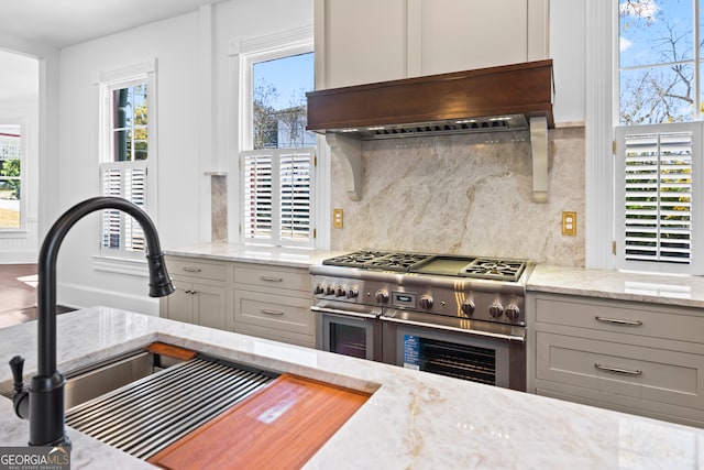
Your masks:
M 549 57 L 549 0 L 316 0 L 316 89 Z

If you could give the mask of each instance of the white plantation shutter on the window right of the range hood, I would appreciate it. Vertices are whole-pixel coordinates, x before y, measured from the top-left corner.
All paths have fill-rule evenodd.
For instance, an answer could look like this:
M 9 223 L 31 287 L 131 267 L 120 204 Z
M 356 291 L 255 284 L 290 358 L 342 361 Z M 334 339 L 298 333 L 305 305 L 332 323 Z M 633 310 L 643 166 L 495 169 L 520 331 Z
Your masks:
M 649 263 L 680 265 L 694 261 L 694 187 L 692 176 L 701 123 L 619 128 L 623 196 L 622 266 Z M 671 271 L 666 269 L 667 271 Z M 657 271 L 663 271 L 662 269 Z

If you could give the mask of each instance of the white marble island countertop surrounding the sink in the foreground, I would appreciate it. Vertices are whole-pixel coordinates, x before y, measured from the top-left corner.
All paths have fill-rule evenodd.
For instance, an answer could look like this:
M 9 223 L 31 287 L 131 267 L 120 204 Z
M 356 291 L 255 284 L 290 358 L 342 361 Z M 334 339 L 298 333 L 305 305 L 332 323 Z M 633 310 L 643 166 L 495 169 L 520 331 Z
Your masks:
M 58 317 L 59 370 L 156 340 L 373 392 L 307 469 L 704 468 L 704 429 L 106 307 Z M 35 323 L 0 329 L 0 345 L 4 364 L 24 356 L 29 380 Z M 0 391 L 11 382 L 10 368 L 0 368 Z M 2 397 L 0 428 L 0 445 L 26 442 L 26 422 Z M 152 468 L 73 429 L 68 435 L 73 469 Z

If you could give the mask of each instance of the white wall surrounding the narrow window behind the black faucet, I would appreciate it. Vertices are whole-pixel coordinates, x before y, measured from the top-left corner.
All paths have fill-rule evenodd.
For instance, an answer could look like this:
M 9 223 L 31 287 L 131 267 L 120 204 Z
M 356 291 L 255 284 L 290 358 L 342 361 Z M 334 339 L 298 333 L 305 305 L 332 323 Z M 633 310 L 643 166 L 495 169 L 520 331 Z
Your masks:
M 228 44 L 312 23 L 308 0 L 232 0 L 61 52 L 61 206 L 99 195 L 99 72 L 157 63 L 157 193 L 155 222 L 165 249 L 210 240 L 210 186 L 204 173 L 232 172 L 237 120 L 232 119 Z M 205 54 L 212 54 L 204 57 Z M 235 77 L 237 78 L 237 77 Z M 237 85 L 237 84 L 235 84 Z M 150 102 L 150 106 L 152 103 Z M 204 119 L 212 127 L 202 125 Z M 152 159 L 152 155 L 150 155 Z M 59 252 L 58 302 L 107 305 L 158 314 L 146 296 L 144 269 L 116 266 L 97 258 L 99 216 L 70 231 Z M 112 267 L 110 267 L 111 270 Z

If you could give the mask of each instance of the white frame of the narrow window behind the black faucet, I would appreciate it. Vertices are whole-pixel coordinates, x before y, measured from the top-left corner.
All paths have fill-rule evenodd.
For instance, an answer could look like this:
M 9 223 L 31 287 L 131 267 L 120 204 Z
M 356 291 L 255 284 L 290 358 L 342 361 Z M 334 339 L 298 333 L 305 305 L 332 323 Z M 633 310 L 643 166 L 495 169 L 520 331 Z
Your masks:
M 156 208 L 158 207 L 156 201 L 156 164 L 158 155 L 158 146 L 156 139 L 156 120 L 157 120 L 157 106 L 156 106 L 156 59 L 150 59 L 143 63 L 139 63 L 129 67 L 123 67 L 109 72 L 100 72 L 96 78 L 96 85 L 99 88 L 100 96 L 100 119 L 99 119 L 99 172 L 98 181 L 100 185 L 100 192 L 102 194 L 102 173 L 103 168 L 114 167 L 116 162 L 112 161 L 112 90 L 119 88 L 125 88 L 132 85 L 146 84 L 148 92 L 148 121 L 147 121 L 147 159 L 146 161 L 134 162 L 119 162 L 123 166 L 134 166 L 135 168 L 146 168 L 146 189 L 145 189 L 145 205 L 143 209 L 150 215 L 150 217 L 156 219 Z M 124 216 L 129 217 L 129 216 Z M 105 271 L 114 271 L 123 274 L 132 273 L 124 262 L 139 262 L 145 264 L 145 252 L 143 251 L 128 251 L 122 247 L 120 249 L 109 249 L 103 247 L 102 242 L 102 222 L 99 226 L 98 243 L 99 243 L 99 258 L 95 264 L 97 269 Z M 106 263 L 106 260 L 113 260 L 114 264 Z M 141 270 L 134 272 L 134 274 L 143 274 Z

